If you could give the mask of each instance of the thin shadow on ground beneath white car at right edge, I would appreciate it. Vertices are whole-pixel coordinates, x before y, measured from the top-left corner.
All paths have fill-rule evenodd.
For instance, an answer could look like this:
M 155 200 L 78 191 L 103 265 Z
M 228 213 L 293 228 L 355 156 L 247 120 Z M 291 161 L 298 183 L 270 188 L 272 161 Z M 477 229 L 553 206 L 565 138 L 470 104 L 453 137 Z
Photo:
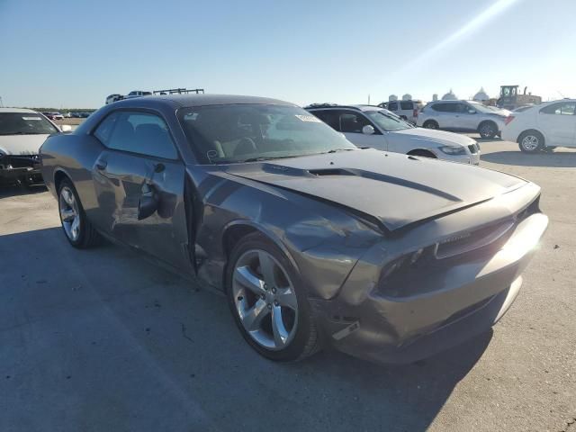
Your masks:
M 512 166 L 576 166 L 576 152 L 556 149 L 554 153 L 527 154 L 518 151 L 496 151 L 481 156 L 483 161 Z

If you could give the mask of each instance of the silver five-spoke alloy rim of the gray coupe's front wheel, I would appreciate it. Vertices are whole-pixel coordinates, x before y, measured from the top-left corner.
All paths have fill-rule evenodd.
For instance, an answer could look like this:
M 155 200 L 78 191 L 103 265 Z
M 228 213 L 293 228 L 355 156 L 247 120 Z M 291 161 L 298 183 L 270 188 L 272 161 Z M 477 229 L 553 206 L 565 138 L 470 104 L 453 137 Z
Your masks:
M 278 351 L 293 340 L 298 300 L 284 267 L 264 250 L 248 250 L 232 275 L 238 318 L 247 334 L 266 349 Z

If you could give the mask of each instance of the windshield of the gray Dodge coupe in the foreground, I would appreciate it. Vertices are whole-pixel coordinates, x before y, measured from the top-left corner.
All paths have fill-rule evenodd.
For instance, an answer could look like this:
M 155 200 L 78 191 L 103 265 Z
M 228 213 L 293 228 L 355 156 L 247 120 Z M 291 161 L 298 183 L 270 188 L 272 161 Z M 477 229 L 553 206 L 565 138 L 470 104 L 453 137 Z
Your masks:
M 178 118 L 202 163 L 298 157 L 356 146 L 310 112 L 266 104 L 183 108 Z

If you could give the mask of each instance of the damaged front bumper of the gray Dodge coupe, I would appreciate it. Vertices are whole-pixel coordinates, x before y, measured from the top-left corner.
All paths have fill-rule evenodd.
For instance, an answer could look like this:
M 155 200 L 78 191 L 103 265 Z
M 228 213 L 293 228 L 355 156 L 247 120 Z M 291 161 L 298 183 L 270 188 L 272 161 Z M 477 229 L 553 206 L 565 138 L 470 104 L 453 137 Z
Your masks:
M 392 295 L 371 276 L 379 260 L 373 255 L 356 265 L 337 297 L 311 299 L 312 306 L 338 350 L 382 363 L 418 361 L 500 320 L 518 295 L 520 274 L 547 225 L 544 214 L 531 214 L 511 229 L 495 254 L 417 269 Z

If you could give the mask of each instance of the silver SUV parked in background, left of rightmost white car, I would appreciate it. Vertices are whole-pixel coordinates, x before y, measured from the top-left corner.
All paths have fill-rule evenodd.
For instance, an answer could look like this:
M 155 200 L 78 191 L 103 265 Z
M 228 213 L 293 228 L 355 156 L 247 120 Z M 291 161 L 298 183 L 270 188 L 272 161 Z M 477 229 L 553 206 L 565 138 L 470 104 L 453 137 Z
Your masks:
M 417 124 L 427 129 L 478 132 L 484 139 L 500 135 L 507 115 L 474 101 L 436 101 L 420 110 Z

